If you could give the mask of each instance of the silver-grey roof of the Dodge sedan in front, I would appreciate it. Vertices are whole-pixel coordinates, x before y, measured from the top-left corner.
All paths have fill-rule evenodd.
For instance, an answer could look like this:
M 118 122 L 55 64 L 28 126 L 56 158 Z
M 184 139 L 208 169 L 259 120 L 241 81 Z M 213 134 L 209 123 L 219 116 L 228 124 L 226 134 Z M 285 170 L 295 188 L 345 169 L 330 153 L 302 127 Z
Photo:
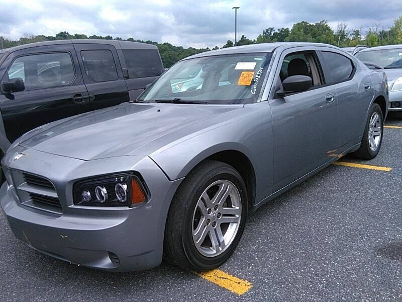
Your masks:
M 299 47 L 299 46 L 325 46 L 325 47 L 331 47 L 334 49 L 340 49 L 334 45 L 323 44 L 323 43 L 274 42 L 274 43 L 250 44 L 250 45 L 243 45 L 243 46 L 221 48 L 221 49 L 217 49 L 217 50 L 210 50 L 210 51 L 201 52 L 201 53 L 186 57 L 186 58 L 184 58 L 184 60 L 190 59 L 190 58 L 192 59 L 192 58 L 206 57 L 206 56 L 211 56 L 211 55 L 222 55 L 222 54 L 272 52 L 278 47 L 292 48 L 292 47 Z

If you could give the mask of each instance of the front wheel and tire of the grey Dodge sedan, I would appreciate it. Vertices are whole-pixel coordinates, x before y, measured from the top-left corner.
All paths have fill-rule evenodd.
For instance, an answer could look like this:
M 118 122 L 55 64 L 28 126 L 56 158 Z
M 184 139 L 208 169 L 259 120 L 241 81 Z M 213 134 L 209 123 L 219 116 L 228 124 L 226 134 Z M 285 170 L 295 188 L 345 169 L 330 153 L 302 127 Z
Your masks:
M 221 198 L 214 202 L 214 197 Z M 247 210 L 247 190 L 240 174 L 221 162 L 203 162 L 188 174 L 173 197 L 165 228 L 165 256 L 192 271 L 219 267 L 240 241 Z M 225 222 L 235 220 L 237 223 Z M 220 244 L 213 245 L 213 238 Z

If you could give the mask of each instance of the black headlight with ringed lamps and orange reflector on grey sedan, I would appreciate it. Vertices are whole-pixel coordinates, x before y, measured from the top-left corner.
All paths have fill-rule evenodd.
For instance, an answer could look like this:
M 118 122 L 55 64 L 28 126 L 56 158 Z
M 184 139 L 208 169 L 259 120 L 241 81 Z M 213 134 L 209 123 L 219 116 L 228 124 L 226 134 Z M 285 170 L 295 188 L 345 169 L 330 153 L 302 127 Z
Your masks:
M 74 184 L 74 204 L 131 206 L 147 200 L 147 190 L 134 173 L 95 177 Z

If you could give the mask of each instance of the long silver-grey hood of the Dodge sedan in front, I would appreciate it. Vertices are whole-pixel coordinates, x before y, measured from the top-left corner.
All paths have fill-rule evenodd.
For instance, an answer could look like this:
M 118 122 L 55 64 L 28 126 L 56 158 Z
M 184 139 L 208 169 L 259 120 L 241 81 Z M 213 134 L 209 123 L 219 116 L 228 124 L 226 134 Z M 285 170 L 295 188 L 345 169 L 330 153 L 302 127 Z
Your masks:
M 189 125 L 199 123 L 195 128 L 203 129 L 206 123 L 201 121 L 242 107 L 123 103 L 36 128 L 23 135 L 19 144 L 81 160 L 147 156 L 187 135 Z

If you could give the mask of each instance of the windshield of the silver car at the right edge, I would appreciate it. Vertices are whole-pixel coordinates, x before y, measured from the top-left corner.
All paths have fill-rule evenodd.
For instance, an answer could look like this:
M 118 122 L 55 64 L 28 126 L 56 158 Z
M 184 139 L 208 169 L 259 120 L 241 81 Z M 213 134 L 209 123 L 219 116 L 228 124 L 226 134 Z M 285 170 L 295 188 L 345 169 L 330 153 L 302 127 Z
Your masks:
M 381 49 L 358 52 L 356 57 L 363 62 L 372 62 L 383 68 L 402 68 L 402 49 Z

